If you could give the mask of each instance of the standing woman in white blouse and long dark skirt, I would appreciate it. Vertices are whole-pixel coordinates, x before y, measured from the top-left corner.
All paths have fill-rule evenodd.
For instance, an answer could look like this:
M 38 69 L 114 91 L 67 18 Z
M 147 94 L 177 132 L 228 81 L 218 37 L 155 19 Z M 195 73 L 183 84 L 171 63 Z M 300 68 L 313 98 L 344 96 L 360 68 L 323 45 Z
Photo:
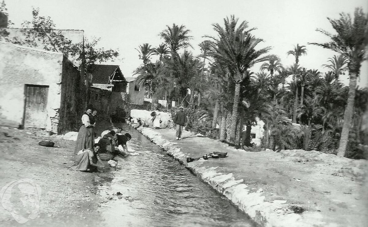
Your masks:
M 93 127 L 95 124 L 91 125 L 89 121 L 89 115 L 91 115 L 92 109 L 89 108 L 87 111 L 82 115 L 82 123 L 83 125 L 80 127 L 77 137 L 77 143 L 75 145 L 74 154 L 78 154 L 78 151 L 81 149 L 88 149 L 93 147 L 95 143 L 94 134 L 95 131 Z

